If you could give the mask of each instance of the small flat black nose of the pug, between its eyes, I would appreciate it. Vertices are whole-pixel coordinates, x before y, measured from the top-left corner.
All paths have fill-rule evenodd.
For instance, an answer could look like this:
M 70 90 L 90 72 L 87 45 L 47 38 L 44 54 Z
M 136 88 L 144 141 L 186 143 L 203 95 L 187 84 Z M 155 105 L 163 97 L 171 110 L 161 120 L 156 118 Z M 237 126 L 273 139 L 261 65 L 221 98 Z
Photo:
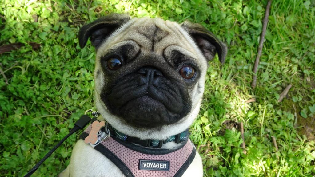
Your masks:
M 143 83 L 156 83 L 157 80 L 163 76 L 163 73 L 152 67 L 142 67 L 138 70 L 138 73 L 140 74 L 140 84 Z

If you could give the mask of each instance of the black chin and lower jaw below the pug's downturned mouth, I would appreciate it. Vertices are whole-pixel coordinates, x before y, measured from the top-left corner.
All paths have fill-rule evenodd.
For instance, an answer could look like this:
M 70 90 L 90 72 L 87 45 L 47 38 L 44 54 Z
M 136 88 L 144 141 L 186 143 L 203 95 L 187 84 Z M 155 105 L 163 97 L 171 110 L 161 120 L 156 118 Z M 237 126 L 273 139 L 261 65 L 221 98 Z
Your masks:
M 119 113 L 126 123 L 137 128 L 159 128 L 178 122 L 182 117 L 149 96 L 129 100 Z

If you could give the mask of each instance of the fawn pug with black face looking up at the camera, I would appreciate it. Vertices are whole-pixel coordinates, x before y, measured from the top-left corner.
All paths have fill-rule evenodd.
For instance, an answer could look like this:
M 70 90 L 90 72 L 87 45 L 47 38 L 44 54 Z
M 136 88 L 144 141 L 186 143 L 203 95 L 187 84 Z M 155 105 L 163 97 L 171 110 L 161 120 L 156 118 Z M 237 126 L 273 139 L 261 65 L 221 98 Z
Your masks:
M 185 147 L 193 146 L 188 145 L 189 140 L 165 140 L 185 132 L 197 117 L 208 61 L 217 53 L 224 63 L 227 52 L 224 43 L 199 24 L 130 18 L 128 14 L 111 14 L 86 24 L 80 29 L 78 38 L 81 48 L 90 39 L 96 50 L 94 101 L 102 119 L 128 137 L 160 141 L 160 147 L 113 141 L 116 149 L 127 147 L 124 151 L 128 152 L 122 158 L 138 153 L 137 148 L 159 156 L 156 155 L 159 151 L 183 153 L 180 148 L 185 143 Z M 60 177 L 141 176 L 127 173 L 123 170 L 125 167 L 117 166 L 117 162 L 107 157 L 110 156 L 95 150 L 95 146 L 78 140 L 70 164 Z M 174 159 L 181 157 L 176 154 Z M 185 169 L 176 175 L 147 168 L 146 175 L 142 176 L 203 176 L 198 152 L 186 161 L 188 166 L 185 163 Z M 132 163 L 135 166 L 139 163 L 138 170 L 152 165 L 154 169 L 167 168 L 164 161 L 152 162 Z M 175 166 L 168 165 L 169 168 Z

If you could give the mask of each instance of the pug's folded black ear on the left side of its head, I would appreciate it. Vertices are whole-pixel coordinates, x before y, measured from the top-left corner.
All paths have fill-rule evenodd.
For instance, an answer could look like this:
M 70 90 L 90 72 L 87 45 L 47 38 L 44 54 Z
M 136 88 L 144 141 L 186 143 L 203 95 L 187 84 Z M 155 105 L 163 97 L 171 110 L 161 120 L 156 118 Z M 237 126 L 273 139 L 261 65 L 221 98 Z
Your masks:
M 98 48 L 106 37 L 129 20 L 130 16 L 128 14 L 110 14 L 83 25 L 78 36 L 80 47 L 83 48 L 89 37 L 91 37 L 92 45 Z

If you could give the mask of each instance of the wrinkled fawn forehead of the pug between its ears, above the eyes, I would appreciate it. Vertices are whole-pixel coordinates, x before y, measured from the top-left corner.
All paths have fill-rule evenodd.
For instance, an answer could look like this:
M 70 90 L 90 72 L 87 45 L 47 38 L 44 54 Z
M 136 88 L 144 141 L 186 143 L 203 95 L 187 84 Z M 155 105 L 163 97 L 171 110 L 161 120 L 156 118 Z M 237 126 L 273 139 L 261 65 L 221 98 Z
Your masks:
M 142 52 L 163 54 L 164 50 L 176 49 L 190 56 L 199 56 L 198 48 L 179 24 L 159 18 L 132 19 L 104 43 L 98 50 L 100 55 L 106 53 L 108 46 L 119 47 L 126 41 L 134 41 L 139 45 Z

